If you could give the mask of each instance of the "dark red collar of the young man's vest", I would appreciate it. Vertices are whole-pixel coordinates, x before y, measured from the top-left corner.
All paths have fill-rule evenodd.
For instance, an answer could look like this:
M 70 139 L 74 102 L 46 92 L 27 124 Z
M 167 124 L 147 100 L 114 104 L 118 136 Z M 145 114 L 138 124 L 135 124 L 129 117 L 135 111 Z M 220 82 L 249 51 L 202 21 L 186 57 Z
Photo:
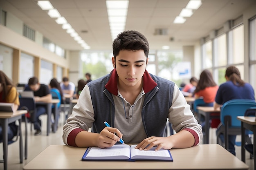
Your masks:
M 105 85 L 106 89 L 112 93 L 113 95 L 118 94 L 118 89 L 117 89 L 117 71 L 116 69 L 113 69 L 110 73 L 110 79 L 108 80 L 108 83 Z M 144 75 L 143 75 L 143 90 L 145 93 L 148 93 L 151 91 L 155 86 L 157 86 L 157 83 L 152 79 L 150 74 L 148 73 L 147 70 L 145 70 Z

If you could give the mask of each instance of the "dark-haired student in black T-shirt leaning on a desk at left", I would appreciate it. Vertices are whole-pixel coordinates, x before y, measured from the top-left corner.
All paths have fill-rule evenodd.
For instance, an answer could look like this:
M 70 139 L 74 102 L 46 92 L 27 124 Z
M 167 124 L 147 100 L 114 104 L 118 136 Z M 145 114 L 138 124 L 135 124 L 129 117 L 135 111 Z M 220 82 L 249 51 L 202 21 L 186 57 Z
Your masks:
M 37 77 L 31 77 L 29 79 L 28 87 L 24 91 L 34 91 L 35 102 L 48 102 L 52 100 L 52 95 L 49 91 L 49 87 L 45 84 L 40 84 Z M 41 134 L 41 120 L 40 115 L 46 113 L 45 106 L 36 106 L 36 115 L 31 116 L 31 122 L 34 123 L 34 129 L 36 132 L 34 135 Z

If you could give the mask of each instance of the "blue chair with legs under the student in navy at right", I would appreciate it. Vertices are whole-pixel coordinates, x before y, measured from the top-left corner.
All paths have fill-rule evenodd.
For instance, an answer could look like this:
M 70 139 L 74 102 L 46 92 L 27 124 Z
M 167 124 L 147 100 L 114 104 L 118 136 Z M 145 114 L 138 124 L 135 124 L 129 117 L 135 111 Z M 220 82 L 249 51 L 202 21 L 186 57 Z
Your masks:
M 220 143 L 220 134 L 223 134 L 225 149 L 227 150 L 229 148 L 229 135 L 241 135 L 241 122 L 237 119 L 237 116 L 244 116 L 245 110 L 254 106 L 256 106 L 255 100 L 250 99 L 233 99 L 222 105 L 220 110 L 220 121 L 223 126 L 221 126 L 217 132 L 217 144 Z M 249 131 L 247 132 L 247 136 L 248 134 Z M 252 142 L 249 139 L 247 140 L 247 143 Z M 236 145 L 239 146 L 240 144 L 236 143 Z

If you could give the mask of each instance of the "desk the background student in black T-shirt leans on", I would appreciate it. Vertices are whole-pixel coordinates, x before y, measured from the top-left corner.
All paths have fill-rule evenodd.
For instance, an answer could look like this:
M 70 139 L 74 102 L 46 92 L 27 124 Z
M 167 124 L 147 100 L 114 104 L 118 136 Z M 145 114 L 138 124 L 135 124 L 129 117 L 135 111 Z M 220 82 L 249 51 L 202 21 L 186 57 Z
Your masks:
M 52 117 L 52 104 L 54 104 L 54 117 L 57 118 L 58 114 L 58 102 L 60 102 L 59 99 L 52 99 L 49 102 L 36 102 L 36 105 L 43 105 L 46 106 L 46 114 L 47 114 L 47 136 L 49 135 L 50 128 L 51 128 L 51 117 Z M 57 120 L 54 120 L 54 128 L 53 132 L 56 132 L 57 129 Z

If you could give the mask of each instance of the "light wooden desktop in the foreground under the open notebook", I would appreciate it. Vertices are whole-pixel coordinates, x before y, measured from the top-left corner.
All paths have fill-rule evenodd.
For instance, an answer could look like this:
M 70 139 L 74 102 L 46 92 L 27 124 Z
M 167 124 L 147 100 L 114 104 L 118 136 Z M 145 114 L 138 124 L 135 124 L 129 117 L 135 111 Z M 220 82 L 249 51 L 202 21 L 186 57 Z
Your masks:
M 32 159 L 23 170 L 198 170 L 249 167 L 217 144 L 171 149 L 173 162 L 164 161 L 81 161 L 86 148 L 51 145 Z

